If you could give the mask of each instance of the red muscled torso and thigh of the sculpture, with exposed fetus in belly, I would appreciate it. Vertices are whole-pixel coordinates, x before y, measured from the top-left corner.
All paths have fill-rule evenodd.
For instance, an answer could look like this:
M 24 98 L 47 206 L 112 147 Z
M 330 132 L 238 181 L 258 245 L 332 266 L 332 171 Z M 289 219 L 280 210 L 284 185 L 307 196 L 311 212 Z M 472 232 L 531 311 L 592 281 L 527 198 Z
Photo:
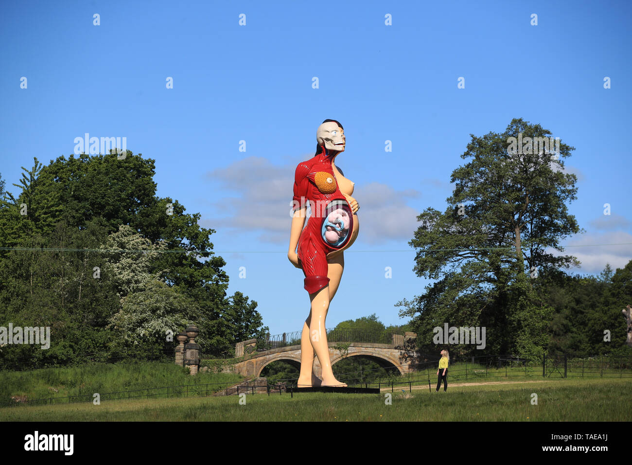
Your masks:
M 294 209 L 310 204 L 311 216 L 298 240 L 305 289 L 316 292 L 329 283 L 327 254 L 348 247 L 354 227 L 351 208 L 340 191 L 331 158 L 324 153 L 296 166 Z

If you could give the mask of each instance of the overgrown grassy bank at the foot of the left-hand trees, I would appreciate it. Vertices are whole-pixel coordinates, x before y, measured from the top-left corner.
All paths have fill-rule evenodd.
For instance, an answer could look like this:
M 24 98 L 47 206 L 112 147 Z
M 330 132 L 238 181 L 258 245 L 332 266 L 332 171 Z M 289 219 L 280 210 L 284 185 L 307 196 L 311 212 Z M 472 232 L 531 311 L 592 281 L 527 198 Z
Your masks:
M 105 394 L 164 386 L 205 383 L 230 385 L 241 379 L 242 376 L 229 373 L 198 373 L 191 376 L 186 368 L 164 362 L 91 363 L 67 368 L 0 371 L 0 405 L 13 404 L 13 396 L 29 400 L 68 395 L 91 397 L 95 392 Z M 219 389 L 221 387 L 217 387 Z

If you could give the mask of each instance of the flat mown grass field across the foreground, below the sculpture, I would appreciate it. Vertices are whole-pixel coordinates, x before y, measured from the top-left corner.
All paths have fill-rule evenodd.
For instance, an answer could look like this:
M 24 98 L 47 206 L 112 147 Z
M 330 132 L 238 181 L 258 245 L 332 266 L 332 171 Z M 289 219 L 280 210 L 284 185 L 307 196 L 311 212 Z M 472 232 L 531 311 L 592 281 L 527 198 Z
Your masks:
M 498 381 L 498 380 L 495 380 Z M 508 380 L 514 381 L 514 380 Z M 0 421 L 629 421 L 632 381 L 559 379 L 447 392 L 131 399 L 0 409 Z M 538 404 L 532 405 L 532 393 Z

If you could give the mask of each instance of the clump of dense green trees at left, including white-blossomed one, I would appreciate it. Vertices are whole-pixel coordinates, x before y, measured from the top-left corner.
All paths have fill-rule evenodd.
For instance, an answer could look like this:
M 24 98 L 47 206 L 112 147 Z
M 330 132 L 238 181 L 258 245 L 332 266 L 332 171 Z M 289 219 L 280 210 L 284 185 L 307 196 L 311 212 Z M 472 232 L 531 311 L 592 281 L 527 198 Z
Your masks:
M 130 151 L 125 159 L 82 154 L 44 166 L 35 158 L 23 171 L 19 195 L 7 192 L 0 203 L 0 316 L 52 326 L 55 343 L 46 356 L 24 349 L 21 366 L 76 360 L 114 338 L 125 348 L 130 335 L 154 337 L 158 330 L 147 328 L 185 321 L 200 326 L 205 352 L 229 355 L 235 342 L 265 329 L 256 302 L 226 294 L 226 262 L 210 242 L 215 230 L 156 195 L 154 160 Z M 162 319 L 150 318 L 153 311 Z

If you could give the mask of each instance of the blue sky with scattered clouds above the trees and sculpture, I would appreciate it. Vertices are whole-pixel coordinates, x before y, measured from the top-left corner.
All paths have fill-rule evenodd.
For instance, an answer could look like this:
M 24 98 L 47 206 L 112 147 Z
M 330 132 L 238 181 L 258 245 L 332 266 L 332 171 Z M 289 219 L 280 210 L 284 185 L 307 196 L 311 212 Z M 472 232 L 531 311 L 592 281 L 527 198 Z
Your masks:
M 290 332 L 309 311 L 286 256 L 294 170 L 313 156 L 319 124 L 338 120 L 347 145 L 336 164 L 356 184 L 360 234 L 327 326 L 372 313 L 400 324 L 394 304 L 428 283 L 412 271 L 416 215 L 446 208 L 470 133 L 523 118 L 576 147 L 569 211 L 586 233 L 562 240 L 582 262 L 571 271 L 621 268 L 632 259 L 631 11 L 627 1 L 4 2 L 0 173 L 17 194 L 33 156 L 68 157 L 84 133 L 126 137 L 155 159 L 157 194 L 217 231 L 229 293 L 257 301 L 273 334 Z

